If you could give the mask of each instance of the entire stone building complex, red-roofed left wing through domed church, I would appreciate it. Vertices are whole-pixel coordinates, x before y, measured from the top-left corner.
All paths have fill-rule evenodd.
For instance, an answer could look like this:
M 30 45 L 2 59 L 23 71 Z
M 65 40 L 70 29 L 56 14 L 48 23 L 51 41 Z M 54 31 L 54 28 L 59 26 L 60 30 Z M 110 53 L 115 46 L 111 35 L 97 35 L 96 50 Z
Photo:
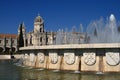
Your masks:
M 34 20 L 34 30 L 26 32 L 26 27 L 22 23 L 22 33 L 25 46 L 59 45 L 59 44 L 79 44 L 85 41 L 85 35 L 79 32 L 47 32 L 44 29 L 44 20 L 37 16 Z M 18 35 L 20 34 L 20 25 Z M 17 34 L 0 34 L 0 52 L 18 51 Z

